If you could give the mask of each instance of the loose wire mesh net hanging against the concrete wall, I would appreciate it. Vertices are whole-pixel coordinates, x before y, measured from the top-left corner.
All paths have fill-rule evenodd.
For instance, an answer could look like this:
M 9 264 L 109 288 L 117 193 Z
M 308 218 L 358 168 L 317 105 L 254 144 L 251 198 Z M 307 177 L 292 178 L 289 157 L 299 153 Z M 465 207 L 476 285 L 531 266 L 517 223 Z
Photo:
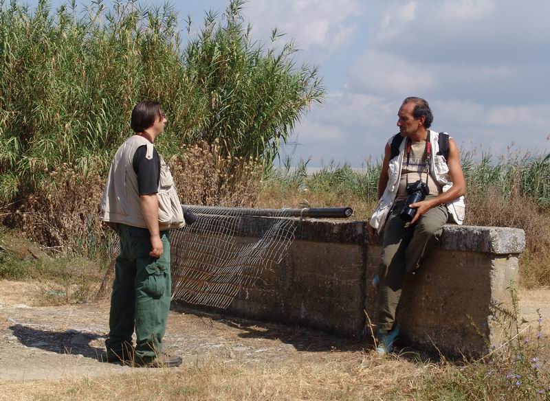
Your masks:
M 239 209 L 188 207 L 197 220 L 170 233 L 173 299 L 227 308 L 265 269 L 279 264 L 295 237 L 284 211 L 272 214 L 259 236 L 243 236 Z

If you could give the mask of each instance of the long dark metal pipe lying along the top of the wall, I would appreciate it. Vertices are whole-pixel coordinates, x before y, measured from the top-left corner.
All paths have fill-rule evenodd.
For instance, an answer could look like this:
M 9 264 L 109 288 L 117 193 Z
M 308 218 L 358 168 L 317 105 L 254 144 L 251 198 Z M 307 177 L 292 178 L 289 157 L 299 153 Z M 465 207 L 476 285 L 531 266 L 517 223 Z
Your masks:
M 311 217 L 348 218 L 353 214 L 351 207 L 304 207 L 303 209 L 252 209 L 249 207 L 219 207 L 182 205 L 194 214 L 222 214 L 230 216 L 263 217 Z

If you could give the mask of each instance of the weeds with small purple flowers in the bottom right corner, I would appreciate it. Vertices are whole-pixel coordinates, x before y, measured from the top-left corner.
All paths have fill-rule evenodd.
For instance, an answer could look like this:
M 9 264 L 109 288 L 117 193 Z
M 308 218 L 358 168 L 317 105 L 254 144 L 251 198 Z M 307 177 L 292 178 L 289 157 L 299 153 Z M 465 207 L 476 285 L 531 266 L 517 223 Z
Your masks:
M 535 323 L 520 316 L 516 291 L 511 306 L 494 305 L 492 324 L 502 329 L 502 341 L 488 345 L 486 356 L 461 367 L 447 363 L 423 376 L 417 387 L 421 400 L 548 400 L 550 369 L 544 319 Z M 497 330 L 497 329 L 495 329 Z

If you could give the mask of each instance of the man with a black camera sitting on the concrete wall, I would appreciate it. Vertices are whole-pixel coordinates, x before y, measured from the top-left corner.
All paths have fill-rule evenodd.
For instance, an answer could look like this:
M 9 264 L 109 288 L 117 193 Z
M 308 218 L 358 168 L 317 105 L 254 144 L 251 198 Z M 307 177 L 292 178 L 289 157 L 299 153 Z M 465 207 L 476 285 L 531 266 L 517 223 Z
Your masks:
M 391 352 L 399 334 L 395 311 L 401 298 L 405 273 L 415 273 L 424 253 L 437 241 L 447 220 L 464 220 L 465 182 L 454 139 L 430 130 L 432 111 L 426 100 L 406 98 L 397 113 L 399 133 L 388 140 L 378 179 L 379 203 L 367 229 L 384 233 L 377 323 L 377 352 Z M 408 205 L 408 196 L 419 191 L 425 198 Z

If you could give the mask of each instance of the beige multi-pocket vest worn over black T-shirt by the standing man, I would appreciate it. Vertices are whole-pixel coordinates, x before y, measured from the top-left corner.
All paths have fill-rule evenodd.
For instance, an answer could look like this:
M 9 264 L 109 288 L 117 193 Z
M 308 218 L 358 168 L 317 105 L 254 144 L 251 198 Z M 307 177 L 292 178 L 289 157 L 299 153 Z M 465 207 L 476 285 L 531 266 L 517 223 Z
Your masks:
M 147 146 L 146 158 L 153 158 L 153 144 L 140 135 L 133 135 L 118 148 L 101 198 L 101 216 L 104 222 L 122 223 L 147 228 L 137 188 L 137 174 L 133 170 L 133 156 L 140 146 Z M 160 157 L 160 155 L 159 155 Z M 172 174 L 160 157 L 160 179 L 157 192 L 159 200 L 159 229 L 184 227 L 184 213 L 177 196 Z

